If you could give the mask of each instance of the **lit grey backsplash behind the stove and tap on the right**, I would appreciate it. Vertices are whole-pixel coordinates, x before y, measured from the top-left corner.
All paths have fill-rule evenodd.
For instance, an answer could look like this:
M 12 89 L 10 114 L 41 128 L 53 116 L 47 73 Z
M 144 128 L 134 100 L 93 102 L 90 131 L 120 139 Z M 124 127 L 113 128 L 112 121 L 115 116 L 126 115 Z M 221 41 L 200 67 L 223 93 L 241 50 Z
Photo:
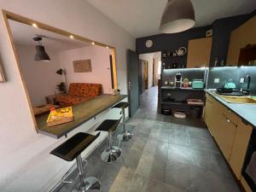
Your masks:
M 212 67 L 209 69 L 207 89 L 223 87 L 229 81 L 233 81 L 238 89 L 246 89 L 247 82 L 240 83 L 240 80 L 247 75 L 251 77 L 251 94 L 256 95 L 256 67 Z

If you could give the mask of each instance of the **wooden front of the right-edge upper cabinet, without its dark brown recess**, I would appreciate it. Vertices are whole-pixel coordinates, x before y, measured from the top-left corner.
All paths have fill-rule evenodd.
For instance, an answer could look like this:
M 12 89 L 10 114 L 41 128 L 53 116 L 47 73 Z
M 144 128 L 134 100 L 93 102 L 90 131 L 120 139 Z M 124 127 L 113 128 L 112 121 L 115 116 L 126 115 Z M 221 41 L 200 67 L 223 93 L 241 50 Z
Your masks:
M 236 66 L 240 49 L 247 44 L 256 44 L 256 16 L 237 27 L 230 36 L 227 64 Z

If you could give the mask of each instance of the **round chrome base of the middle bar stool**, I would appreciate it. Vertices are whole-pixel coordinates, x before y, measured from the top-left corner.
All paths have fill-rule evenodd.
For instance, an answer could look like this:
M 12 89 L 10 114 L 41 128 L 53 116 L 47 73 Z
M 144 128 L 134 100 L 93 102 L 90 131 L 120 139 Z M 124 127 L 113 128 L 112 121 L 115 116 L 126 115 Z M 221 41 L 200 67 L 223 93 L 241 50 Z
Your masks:
M 106 148 L 101 155 L 101 159 L 106 163 L 112 163 L 119 159 L 122 155 L 122 150 L 119 147 L 112 146 L 111 148 Z

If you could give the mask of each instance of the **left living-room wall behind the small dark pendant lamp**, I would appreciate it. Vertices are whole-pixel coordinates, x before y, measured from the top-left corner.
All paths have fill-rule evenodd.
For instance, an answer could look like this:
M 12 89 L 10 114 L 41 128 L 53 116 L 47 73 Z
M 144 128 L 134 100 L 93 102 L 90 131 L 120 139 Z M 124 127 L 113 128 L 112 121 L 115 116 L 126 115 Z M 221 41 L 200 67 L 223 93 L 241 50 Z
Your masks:
M 16 49 L 32 106 L 42 105 L 45 96 L 54 95 L 56 85 L 64 81 L 61 75 L 55 73 L 60 68 L 58 56 L 47 49 L 50 61 L 34 61 L 34 46 L 16 44 Z

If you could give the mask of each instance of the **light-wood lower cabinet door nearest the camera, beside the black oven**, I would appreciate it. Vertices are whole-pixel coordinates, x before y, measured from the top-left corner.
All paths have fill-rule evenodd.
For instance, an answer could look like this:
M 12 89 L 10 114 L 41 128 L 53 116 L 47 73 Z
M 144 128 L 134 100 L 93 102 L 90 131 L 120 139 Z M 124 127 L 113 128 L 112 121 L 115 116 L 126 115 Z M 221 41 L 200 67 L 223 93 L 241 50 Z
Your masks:
M 230 166 L 238 179 L 241 178 L 241 168 L 252 131 L 253 128 L 251 125 L 245 125 L 241 120 L 238 122 L 236 137 L 230 155 Z

